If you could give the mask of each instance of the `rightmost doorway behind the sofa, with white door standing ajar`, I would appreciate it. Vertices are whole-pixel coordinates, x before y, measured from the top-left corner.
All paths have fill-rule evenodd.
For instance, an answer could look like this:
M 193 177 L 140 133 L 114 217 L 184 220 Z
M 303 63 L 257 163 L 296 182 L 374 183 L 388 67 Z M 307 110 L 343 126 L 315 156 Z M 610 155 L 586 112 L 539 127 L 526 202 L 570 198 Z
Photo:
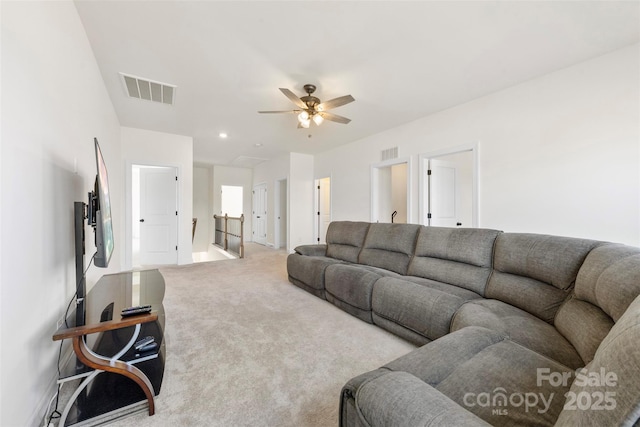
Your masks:
M 420 155 L 420 223 L 478 227 L 478 145 Z

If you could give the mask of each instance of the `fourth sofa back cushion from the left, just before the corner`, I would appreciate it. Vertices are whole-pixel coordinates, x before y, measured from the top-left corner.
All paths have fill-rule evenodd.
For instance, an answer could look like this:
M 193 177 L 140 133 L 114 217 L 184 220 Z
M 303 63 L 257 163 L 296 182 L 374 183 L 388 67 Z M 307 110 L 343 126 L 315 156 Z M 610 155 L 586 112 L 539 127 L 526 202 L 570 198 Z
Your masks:
M 553 323 L 587 254 L 602 242 L 543 234 L 503 233 L 496 239 L 485 296 Z

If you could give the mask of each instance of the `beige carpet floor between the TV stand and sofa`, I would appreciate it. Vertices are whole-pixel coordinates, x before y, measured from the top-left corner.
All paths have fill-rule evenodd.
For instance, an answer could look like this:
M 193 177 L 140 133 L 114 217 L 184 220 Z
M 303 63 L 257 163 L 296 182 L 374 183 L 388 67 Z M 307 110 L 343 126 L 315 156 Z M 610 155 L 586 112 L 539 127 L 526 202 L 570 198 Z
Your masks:
M 156 415 L 113 426 L 336 426 L 346 381 L 415 348 L 289 283 L 284 251 L 161 272 Z

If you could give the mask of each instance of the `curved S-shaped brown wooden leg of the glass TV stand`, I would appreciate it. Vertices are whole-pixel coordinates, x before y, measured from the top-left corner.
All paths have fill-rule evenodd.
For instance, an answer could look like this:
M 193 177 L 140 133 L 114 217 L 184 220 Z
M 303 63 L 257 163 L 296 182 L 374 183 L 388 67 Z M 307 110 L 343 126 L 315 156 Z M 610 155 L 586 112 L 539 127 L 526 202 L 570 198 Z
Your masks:
M 91 350 L 87 348 L 82 335 L 73 337 L 73 351 L 75 351 L 78 360 L 93 369 L 99 369 L 105 372 L 124 375 L 125 377 L 135 381 L 142 389 L 147 400 L 149 401 L 149 415 L 155 413 L 153 385 L 149 378 L 140 369 L 121 360 L 110 361 L 96 357 Z

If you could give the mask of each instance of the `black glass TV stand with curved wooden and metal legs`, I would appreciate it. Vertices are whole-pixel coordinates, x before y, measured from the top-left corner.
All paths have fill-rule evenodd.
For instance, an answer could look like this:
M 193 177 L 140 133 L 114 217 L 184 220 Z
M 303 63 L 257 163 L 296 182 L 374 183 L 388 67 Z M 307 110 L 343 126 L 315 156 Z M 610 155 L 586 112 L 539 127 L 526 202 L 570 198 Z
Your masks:
M 59 425 L 99 424 L 148 408 L 164 374 L 164 279 L 158 270 L 103 276 L 88 293 L 86 324 L 75 326 L 75 313 L 53 340 L 71 338 L 75 357 L 63 367 L 59 383 L 82 380 L 67 403 Z M 135 305 L 152 306 L 149 314 L 121 317 Z M 139 354 L 133 347 L 153 336 L 155 352 Z M 100 377 L 99 377 L 100 375 Z M 69 424 L 67 424 L 69 422 Z

